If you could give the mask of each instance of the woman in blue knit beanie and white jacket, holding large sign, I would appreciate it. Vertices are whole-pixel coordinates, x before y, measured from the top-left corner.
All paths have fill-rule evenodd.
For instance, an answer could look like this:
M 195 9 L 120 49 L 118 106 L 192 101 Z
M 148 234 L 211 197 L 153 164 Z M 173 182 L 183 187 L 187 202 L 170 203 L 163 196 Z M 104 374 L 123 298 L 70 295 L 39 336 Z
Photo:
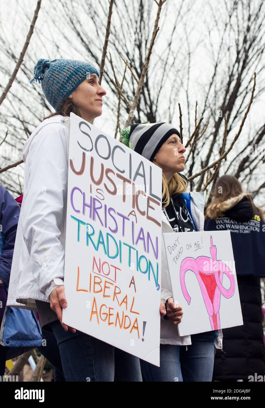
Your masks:
M 56 338 L 66 381 L 141 381 L 137 357 L 62 324 L 68 116 L 92 122 L 102 114 L 106 91 L 98 70 L 84 61 L 40 59 L 34 80 L 55 113 L 24 144 L 24 197 L 7 304 L 38 310 L 42 328 Z

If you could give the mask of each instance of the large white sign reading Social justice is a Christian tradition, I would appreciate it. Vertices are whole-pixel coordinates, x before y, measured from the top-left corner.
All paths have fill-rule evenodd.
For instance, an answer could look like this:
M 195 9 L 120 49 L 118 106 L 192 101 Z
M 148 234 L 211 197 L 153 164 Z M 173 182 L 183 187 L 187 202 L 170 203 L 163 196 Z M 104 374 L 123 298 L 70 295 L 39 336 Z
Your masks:
M 71 113 L 63 322 L 159 366 L 161 169 Z

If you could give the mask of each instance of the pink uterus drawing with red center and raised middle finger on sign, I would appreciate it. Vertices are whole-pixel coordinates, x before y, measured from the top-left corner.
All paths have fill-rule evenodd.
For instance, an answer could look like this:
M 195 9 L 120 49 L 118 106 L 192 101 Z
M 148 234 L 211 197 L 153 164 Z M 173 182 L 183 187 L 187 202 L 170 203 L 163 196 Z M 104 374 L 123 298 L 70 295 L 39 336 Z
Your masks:
M 191 298 L 186 289 L 184 279 L 187 271 L 195 273 L 201 288 L 212 330 L 216 330 L 220 328 L 219 309 L 221 294 L 227 299 L 232 297 L 235 291 L 235 281 L 230 268 L 222 261 L 216 259 L 216 246 L 212 243 L 212 236 L 210 241 L 210 253 L 212 258 L 200 256 L 196 259 L 192 257 L 183 259 L 180 267 L 180 283 L 183 295 L 188 304 L 190 304 Z M 229 289 L 225 289 L 222 285 L 223 274 L 227 275 L 230 280 Z

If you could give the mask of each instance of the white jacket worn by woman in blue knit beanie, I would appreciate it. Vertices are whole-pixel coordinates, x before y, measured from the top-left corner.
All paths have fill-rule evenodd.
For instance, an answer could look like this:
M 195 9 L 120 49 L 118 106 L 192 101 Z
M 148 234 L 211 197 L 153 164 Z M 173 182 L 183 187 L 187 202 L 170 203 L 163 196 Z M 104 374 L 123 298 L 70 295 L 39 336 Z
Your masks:
M 36 310 L 35 299 L 49 302 L 54 289 L 51 282 L 64 278 L 69 146 L 66 120 L 61 115 L 45 119 L 24 144 L 24 195 L 8 306 Z

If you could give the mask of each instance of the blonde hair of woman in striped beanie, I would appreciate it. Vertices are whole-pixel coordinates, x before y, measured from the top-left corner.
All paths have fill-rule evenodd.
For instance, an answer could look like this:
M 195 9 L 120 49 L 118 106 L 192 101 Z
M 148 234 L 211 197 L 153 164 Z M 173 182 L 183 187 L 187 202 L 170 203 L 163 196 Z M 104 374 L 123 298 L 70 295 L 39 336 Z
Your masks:
M 161 168 L 161 166 L 159 166 L 159 164 L 157 164 L 157 162 L 155 162 L 154 160 L 152 161 L 152 163 Z M 166 179 L 166 176 L 162 170 L 162 208 L 168 206 L 168 204 L 170 203 L 170 197 L 172 197 L 174 194 L 185 193 L 187 187 L 187 180 L 179 173 L 174 173 L 170 179 L 170 182 L 168 183 L 168 180 Z

